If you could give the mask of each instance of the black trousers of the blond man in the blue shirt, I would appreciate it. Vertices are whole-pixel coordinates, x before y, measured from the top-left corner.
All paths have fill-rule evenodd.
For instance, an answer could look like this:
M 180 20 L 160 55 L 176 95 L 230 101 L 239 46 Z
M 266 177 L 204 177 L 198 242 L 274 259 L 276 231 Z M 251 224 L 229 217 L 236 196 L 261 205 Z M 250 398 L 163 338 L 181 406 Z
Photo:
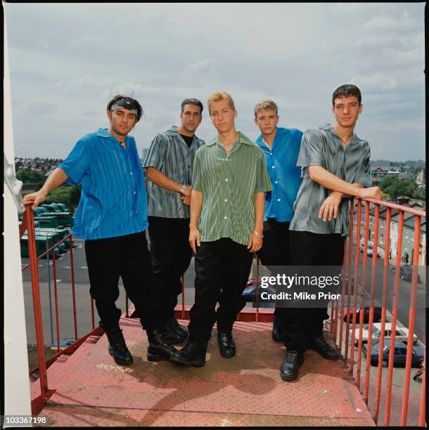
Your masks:
M 279 222 L 275 218 L 269 218 L 266 224 L 268 226 L 264 228 L 264 242 L 262 248 L 257 252 L 257 256 L 259 256 L 261 263 L 271 271 L 271 275 L 276 276 L 280 267 L 270 266 L 289 266 L 290 264 L 290 222 Z M 278 308 L 275 308 L 274 324 L 278 327 L 281 327 L 281 315 L 282 311 L 279 312 Z

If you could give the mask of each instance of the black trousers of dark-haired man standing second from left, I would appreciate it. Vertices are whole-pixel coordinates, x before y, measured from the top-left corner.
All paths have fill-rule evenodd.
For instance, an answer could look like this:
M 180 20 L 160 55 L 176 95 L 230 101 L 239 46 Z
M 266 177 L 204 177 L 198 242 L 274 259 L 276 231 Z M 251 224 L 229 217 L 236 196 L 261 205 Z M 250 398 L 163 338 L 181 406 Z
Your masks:
M 163 318 L 171 317 L 181 293 L 181 276 L 191 263 L 189 219 L 149 216 L 151 260 Z

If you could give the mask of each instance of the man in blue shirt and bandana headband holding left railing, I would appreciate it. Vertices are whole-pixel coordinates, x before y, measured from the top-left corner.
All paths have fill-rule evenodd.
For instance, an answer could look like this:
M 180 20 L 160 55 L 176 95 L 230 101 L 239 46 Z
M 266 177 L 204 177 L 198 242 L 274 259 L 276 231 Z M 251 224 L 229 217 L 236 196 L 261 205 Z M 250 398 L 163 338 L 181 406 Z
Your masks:
M 98 129 L 79 139 L 43 187 L 24 198 L 25 202 L 34 202 L 34 209 L 62 183 L 82 183 L 72 233 L 85 240 L 89 293 L 108 337 L 108 351 L 120 365 L 133 361 L 119 327 L 122 311 L 115 306 L 120 277 L 148 334 L 148 360 L 168 360 L 174 351 L 160 328 L 165 322 L 160 318 L 146 242 L 143 169 L 136 142 L 128 136 L 142 113 L 134 98 L 116 96 L 110 100 L 109 129 Z

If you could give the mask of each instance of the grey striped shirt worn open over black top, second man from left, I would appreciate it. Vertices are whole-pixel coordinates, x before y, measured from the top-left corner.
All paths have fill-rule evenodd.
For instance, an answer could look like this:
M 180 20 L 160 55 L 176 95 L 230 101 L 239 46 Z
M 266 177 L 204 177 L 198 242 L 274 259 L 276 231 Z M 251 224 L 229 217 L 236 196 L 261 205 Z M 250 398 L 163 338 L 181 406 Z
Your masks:
M 193 157 L 204 141 L 193 136 L 191 148 L 177 131 L 177 126 L 158 133 L 152 141 L 143 167 L 155 167 L 167 178 L 191 185 Z M 148 215 L 163 218 L 189 218 L 190 208 L 180 200 L 181 194 L 148 181 Z

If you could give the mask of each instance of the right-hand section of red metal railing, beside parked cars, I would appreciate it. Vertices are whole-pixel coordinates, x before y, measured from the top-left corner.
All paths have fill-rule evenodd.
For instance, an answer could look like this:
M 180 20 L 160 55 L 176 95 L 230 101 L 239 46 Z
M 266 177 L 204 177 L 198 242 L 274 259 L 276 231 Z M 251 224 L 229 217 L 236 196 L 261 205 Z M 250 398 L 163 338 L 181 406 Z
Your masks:
M 413 335 L 416 321 L 416 292 L 417 292 L 417 284 L 418 284 L 418 264 L 419 264 L 419 251 L 420 251 L 420 237 L 421 237 L 421 218 L 425 217 L 425 211 L 413 209 L 410 207 L 399 206 L 397 204 L 392 204 L 389 202 L 383 202 L 378 200 L 368 199 L 365 200 L 365 221 L 363 224 L 364 227 L 364 249 L 363 249 L 363 258 L 362 258 L 362 276 L 361 276 L 361 284 L 359 285 L 359 248 L 361 247 L 361 210 L 362 210 L 362 201 L 357 200 L 357 204 L 355 205 L 355 199 L 351 199 L 350 203 L 350 235 L 348 237 L 348 301 L 347 301 L 347 313 L 343 315 L 344 308 L 344 295 L 342 295 L 342 304 L 341 309 L 339 310 L 338 301 L 331 303 L 331 334 L 333 335 L 333 339 L 335 339 L 335 344 L 338 345 L 340 351 L 343 352 L 344 361 L 348 366 L 350 373 L 355 377 L 355 383 L 361 390 L 362 395 L 364 396 L 364 400 L 366 404 L 369 403 L 369 390 L 370 390 L 370 382 L 371 382 L 371 351 L 373 346 L 373 319 L 374 319 L 374 308 L 376 307 L 374 302 L 374 297 L 376 293 L 376 285 L 377 285 L 377 262 L 378 262 L 378 247 L 379 247 L 379 230 L 380 230 L 380 207 L 386 208 L 386 218 L 385 218 L 385 252 L 383 259 L 383 299 L 381 303 L 381 318 L 380 318 L 380 339 L 378 341 L 378 367 L 377 367 L 377 375 L 376 375 L 376 383 L 375 383 L 375 393 L 373 393 L 373 398 L 375 399 L 373 410 L 371 413 L 373 415 L 373 419 L 376 423 L 380 418 L 380 408 L 382 401 L 382 380 L 383 380 L 383 346 L 385 345 L 385 324 L 386 318 L 388 314 L 388 303 L 387 297 L 390 293 L 389 291 L 389 266 L 390 266 L 390 229 L 392 224 L 392 209 L 399 211 L 399 220 L 398 220 L 398 235 L 397 235 L 397 249 L 396 249 L 396 259 L 395 259 L 395 277 L 394 277 L 394 285 L 393 285 L 393 303 L 392 303 L 392 318 L 390 321 L 391 330 L 390 330 L 390 344 L 389 344 L 389 356 L 388 356 L 388 374 L 387 374 L 387 382 L 385 383 L 385 398 L 384 398 L 384 420 L 383 425 L 389 426 L 391 422 L 392 415 L 392 406 L 395 406 L 395 410 L 401 410 L 400 415 L 400 424 L 402 426 L 406 426 L 407 415 L 409 409 L 409 392 L 410 392 L 410 379 L 411 379 L 411 359 L 413 354 Z M 370 208 L 374 207 L 374 219 L 373 223 L 370 223 Z M 354 215 L 356 217 L 356 226 L 354 226 Z M 408 318 L 408 339 L 406 342 L 406 364 L 404 370 L 404 384 L 402 389 L 402 404 L 401 405 L 392 405 L 392 382 L 393 382 L 393 373 L 394 373 L 394 354 L 395 354 L 395 336 L 396 336 L 396 328 L 398 323 L 398 307 L 399 307 L 399 293 L 400 293 L 400 266 L 401 266 L 401 256 L 402 256 L 402 242 L 403 242 L 403 232 L 404 232 L 404 214 L 411 214 L 414 216 L 414 252 L 413 252 L 413 261 L 412 261 L 412 278 L 411 278 L 411 291 L 410 291 L 410 305 L 409 305 L 409 318 Z M 366 294 L 366 268 L 368 265 L 368 242 L 369 242 L 369 229 L 373 228 L 373 256 L 371 263 L 371 292 L 370 292 L 370 302 L 369 302 L 369 326 L 368 326 L 368 342 L 366 346 L 367 357 L 366 357 L 366 373 L 364 379 L 364 387 L 361 389 L 361 367 L 362 367 L 362 352 L 363 352 L 363 341 L 362 341 L 362 330 L 364 323 L 364 307 L 365 307 L 365 294 Z M 354 235 L 355 233 L 355 235 Z M 356 241 L 355 246 L 353 247 L 353 240 Z M 346 241 L 347 244 L 347 241 Z M 347 249 L 347 247 L 345 247 Z M 353 259 L 353 249 L 355 252 Z M 346 252 L 345 252 L 346 253 Z M 346 263 L 347 256 L 344 258 L 344 270 L 347 268 Z M 352 264 L 354 261 L 354 264 Z M 425 263 L 424 263 L 425 265 Z M 423 266 L 423 264 L 421 264 Z M 353 278 L 352 278 L 352 269 Z M 350 308 L 350 297 L 351 297 L 351 288 L 353 287 L 353 308 Z M 360 286 L 360 289 L 359 289 Z M 360 301 L 357 301 L 357 292 L 359 290 Z M 342 293 L 344 293 L 344 285 L 342 286 Z M 356 325 L 357 325 L 357 306 L 361 309 L 359 311 L 359 330 L 358 330 L 358 339 L 355 339 L 356 334 Z M 423 309 L 422 309 L 423 311 Z M 338 313 L 340 313 L 340 317 L 338 318 Z M 343 318 L 346 317 L 346 327 L 345 327 L 345 342 L 342 344 L 342 326 L 343 326 Z M 350 318 L 352 318 L 352 330 L 351 330 L 351 339 L 349 342 L 349 327 L 350 327 Z M 340 336 L 338 339 L 338 320 L 340 321 Z M 404 321 L 405 322 L 405 321 Z M 357 342 L 357 366 L 354 367 L 354 344 Z M 348 358 L 348 351 L 350 346 L 350 359 Z M 424 348 L 425 349 L 425 348 Z M 425 358 L 424 358 L 425 360 Z M 423 372 L 423 383 L 421 389 L 421 401 L 420 408 L 418 411 L 418 425 L 423 426 L 425 423 L 425 372 Z

